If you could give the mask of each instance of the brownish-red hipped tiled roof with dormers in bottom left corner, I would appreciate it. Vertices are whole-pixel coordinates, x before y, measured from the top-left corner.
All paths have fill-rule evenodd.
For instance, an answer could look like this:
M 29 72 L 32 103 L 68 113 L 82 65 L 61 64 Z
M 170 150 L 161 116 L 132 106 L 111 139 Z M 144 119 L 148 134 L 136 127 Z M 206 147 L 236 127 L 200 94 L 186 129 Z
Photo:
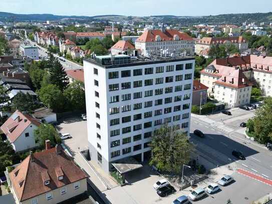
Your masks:
M 87 178 L 61 146 L 29 155 L 9 176 L 20 201 Z M 50 183 L 45 185 L 48 179 Z

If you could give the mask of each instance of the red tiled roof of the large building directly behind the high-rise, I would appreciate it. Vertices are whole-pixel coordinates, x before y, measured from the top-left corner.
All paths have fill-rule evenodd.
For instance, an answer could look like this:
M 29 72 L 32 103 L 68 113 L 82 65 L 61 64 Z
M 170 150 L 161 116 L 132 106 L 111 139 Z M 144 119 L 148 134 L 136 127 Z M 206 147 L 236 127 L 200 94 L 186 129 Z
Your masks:
M 155 42 L 156 36 L 160 36 L 161 41 L 173 41 L 174 36 L 177 35 L 179 40 L 193 41 L 193 39 L 186 33 L 181 33 L 178 30 L 152 30 L 144 32 L 136 42 Z

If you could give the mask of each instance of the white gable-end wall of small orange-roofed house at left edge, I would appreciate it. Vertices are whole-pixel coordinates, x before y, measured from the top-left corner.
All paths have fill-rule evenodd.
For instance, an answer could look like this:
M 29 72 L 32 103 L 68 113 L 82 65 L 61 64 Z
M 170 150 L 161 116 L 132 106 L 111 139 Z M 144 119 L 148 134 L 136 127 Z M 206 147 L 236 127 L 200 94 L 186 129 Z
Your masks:
M 24 132 L 12 143 L 14 150 L 25 151 L 27 149 L 31 149 L 37 147 L 39 144 L 35 143 L 34 130 L 38 127 L 34 124 L 30 124 Z M 29 133 L 29 136 L 26 137 L 26 133 Z

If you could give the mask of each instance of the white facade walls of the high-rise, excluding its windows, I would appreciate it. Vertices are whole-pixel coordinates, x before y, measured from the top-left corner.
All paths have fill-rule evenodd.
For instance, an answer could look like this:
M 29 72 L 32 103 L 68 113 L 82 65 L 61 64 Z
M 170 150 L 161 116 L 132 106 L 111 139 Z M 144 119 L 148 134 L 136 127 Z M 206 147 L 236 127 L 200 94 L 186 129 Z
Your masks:
M 192 63 L 193 68 L 189 70 L 185 70 L 185 64 L 186 63 Z M 181 71 L 175 71 L 177 64 L 184 64 L 183 70 Z M 167 65 L 174 65 L 174 71 L 173 72 L 166 72 L 166 66 Z M 163 73 L 157 73 L 156 74 L 156 67 L 164 66 L 164 72 Z M 145 75 L 145 68 L 153 67 L 153 74 Z M 94 74 L 94 68 L 98 69 L 98 75 Z M 133 76 L 133 70 L 134 69 L 142 69 L 142 75 L 141 76 Z M 131 77 L 125 77 L 121 78 L 121 71 L 123 70 L 131 70 Z M 109 79 L 109 72 L 115 72 L 118 71 L 119 78 L 117 79 Z M 185 74 L 192 74 L 192 78 L 189 80 L 184 80 Z M 183 131 L 189 131 L 190 127 L 190 112 L 191 112 L 191 101 L 192 101 L 192 88 L 193 88 L 193 74 L 194 74 L 194 60 L 187 60 L 187 61 L 179 61 L 179 62 L 168 62 L 168 63 L 157 63 L 157 64 L 146 64 L 146 65 L 140 65 L 140 66 L 128 66 L 128 67 L 117 67 L 117 68 L 109 68 L 105 69 L 104 67 L 101 67 L 96 64 L 92 64 L 88 61 L 84 61 L 84 77 L 85 77 L 85 92 L 86 92 L 86 109 L 87 109 L 87 127 L 88 127 L 88 141 L 89 141 L 89 147 L 90 147 L 90 153 L 91 153 L 91 159 L 94 159 L 97 161 L 97 153 L 99 152 L 102 154 L 102 164 L 98 162 L 105 171 L 109 171 L 110 164 L 109 162 L 118 160 L 121 158 L 125 158 L 132 155 L 142 154 L 142 160 L 143 160 L 143 153 L 150 150 L 149 147 L 144 148 L 144 143 L 151 141 L 151 137 L 144 138 L 145 132 L 151 132 L 153 135 L 153 131 L 155 129 L 158 129 L 160 125 L 154 126 L 154 121 L 158 119 L 162 119 L 162 123 L 164 123 L 164 119 L 167 117 L 171 117 L 171 122 L 169 123 L 169 126 L 177 125 L 179 124 L 181 126 L 182 123 L 187 123 L 188 127 L 182 129 Z M 176 75 L 183 75 L 182 81 L 175 81 Z M 165 83 L 165 77 L 173 76 L 173 82 L 172 83 Z M 163 84 L 157 84 L 155 85 L 155 79 L 156 78 L 164 78 Z M 146 79 L 153 79 L 153 85 L 150 86 L 144 86 L 144 80 Z M 97 80 L 99 82 L 99 86 L 94 85 L 94 80 Z M 133 88 L 133 81 L 140 81 L 142 80 L 142 87 Z M 130 89 L 121 89 L 121 83 L 124 82 L 131 82 L 131 88 Z M 109 84 L 119 84 L 119 90 L 117 91 L 109 91 Z M 185 84 L 191 84 L 191 88 L 189 90 L 184 90 Z M 182 85 L 182 91 L 175 92 L 175 86 Z M 165 88 L 166 87 L 173 87 L 172 93 L 165 94 Z M 155 95 L 155 89 L 163 88 L 163 94 L 162 95 Z M 144 97 L 145 91 L 153 90 L 153 95 L 149 97 Z M 95 91 L 99 93 L 99 98 L 95 97 Z M 142 98 L 139 99 L 133 99 L 133 93 L 135 92 L 142 92 Z M 131 94 L 131 100 L 122 101 L 122 94 Z M 190 99 L 183 100 L 183 97 L 185 94 L 190 94 Z M 119 102 L 110 103 L 111 96 L 119 96 Z M 182 96 L 181 101 L 174 102 L 174 96 Z M 164 103 L 164 99 L 167 97 L 172 97 L 172 103 Z M 163 99 L 162 105 L 155 106 L 155 100 L 156 99 Z M 152 107 L 145 108 L 144 102 L 145 101 L 152 101 Z M 100 108 L 95 107 L 95 103 L 99 103 Z M 142 103 L 142 108 L 133 110 L 133 104 L 136 103 Z M 182 110 L 183 104 L 189 104 L 189 108 Z M 122 106 L 125 105 L 131 105 L 131 111 L 122 112 Z M 181 105 L 181 110 L 173 112 L 173 107 Z M 119 113 L 117 114 L 111 114 L 109 113 L 110 108 L 119 107 Z M 171 113 L 164 114 L 164 108 L 172 108 Z M 162 109 L 162 114 L 155 116 L 154 111 Z M 144 118 L 144 112 L 152 111 L 152 117 Z M 96 118 L 96 113 L 100 114 L 100 119 Z M 140 120 L 133 120 L 133 115 L 135 114 L 142 114 L 142 119 Z M 182 114 L 188 113 L 189 117 L 186 119 L 182 119 Z M 173 116 L 180 115 L 180 120 L 173 122 Z M 122 117 L 124 116 L 131 116 L 131 121 L 127 123 L 122 123 Z M 120 123 L 118 125 L 110 126 L 110 120 L 119 118 Z M 144 123 L 152 121 L 152 126 L 149 128 L 144 128 Z M 101 128 L 96 127 L 96 123 L 98 123 Z M 142 129 L 133 131 L 133 125 L 142 124 Z M 131 127 L 131 132 L 122 134 L 122 128 L 125 127 Z M 117 136 L 110 136 L 111 130 L 120 129 L 120 135 Z M 97 138 L 97 133 L 101 135 L 101 139 Z M 142 134 L 142 139 L 138 141 L 133 141 L 133 136 Z M 131 142 L 127 144 L 122 144 L 122 139 L 126 137 L 131 137 Z M 111 142 L 115 140 L 120 140 L 120 145 L 116 147 L 111 148 Z M 101 149 L 97 147 L 97 144 L 101 145 Z M 142 148 L 137 151 L 133 151 L 133 146 L 137 144 L 142 144 Z M 131 152 L 127 154 L 122 154 L 122 149 L 131 147 Z M 92 149 L 93 148 L 93 149 Z M 120 156 L 111 158 L 111 152 L 120 150 Z

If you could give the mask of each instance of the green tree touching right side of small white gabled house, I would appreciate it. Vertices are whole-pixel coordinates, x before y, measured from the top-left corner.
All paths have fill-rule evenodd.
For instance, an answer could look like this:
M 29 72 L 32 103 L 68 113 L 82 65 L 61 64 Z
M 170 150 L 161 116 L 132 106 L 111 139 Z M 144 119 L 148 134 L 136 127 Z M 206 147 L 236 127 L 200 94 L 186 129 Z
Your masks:
M 61 138 L 56 128 L 47 123 L 42 123 L 36 130 L 34 130 L 34 137 L 41 147 L 45 147 L 45 141 L 48 139 L 53 146 L 61 143 Z

